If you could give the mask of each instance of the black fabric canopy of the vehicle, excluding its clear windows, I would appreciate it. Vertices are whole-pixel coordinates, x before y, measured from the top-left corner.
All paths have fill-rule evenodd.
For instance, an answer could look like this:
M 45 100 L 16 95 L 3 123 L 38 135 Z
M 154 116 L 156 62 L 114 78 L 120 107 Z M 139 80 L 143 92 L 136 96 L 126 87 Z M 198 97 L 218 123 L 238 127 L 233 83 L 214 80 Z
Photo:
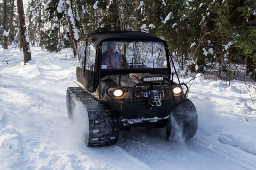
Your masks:
M 95 92 L 98 84 L 100 84 L 100 80 L 103 76 L 106 75 L 112 75 L 116 73 L 120 74 L 129 74 L 130 72 L 148 72 L 152 74 L 156 74 L 156 71 L 160 72 L 161 74 L 164 74 L 166 76 L 170 76 L 170 65 L 168 64 L 168 69 L 162 68 L 162 69 L 104 69 L 104 71 L 101 70 L 101 49 L 99 48 L 103 42 L 105 41 L 126 41 L 126 42 L 162 42 L 164 43 L 166 47 L 166 59 L 167 63 L 169 63 L 168 58 L 168 51 L 167 51 L 167 43 L 166 41 L 151 35 L 149 33 L 140 32 L 140 31 L 103 31 L 103 32 L 96 32 L 96 33 L 90 33 L 86 34 L 84 36 L 81 36 L 78 41 L 88 41 L 90 43 L 96 44 L 96 58 L 95 58 L 95 67 L 94 71 L 87 70 L 84 68 L 77 67 L 77 77 L 78 82 L 81 82 L 84 84 L 84 87 L 88 89 L 89 91 Z M 87 44 L 87 43 L 86 43 Z M 86 61 L 84 61 L 86 62 Z M 92 81 L 93 80 L 93 81 Z

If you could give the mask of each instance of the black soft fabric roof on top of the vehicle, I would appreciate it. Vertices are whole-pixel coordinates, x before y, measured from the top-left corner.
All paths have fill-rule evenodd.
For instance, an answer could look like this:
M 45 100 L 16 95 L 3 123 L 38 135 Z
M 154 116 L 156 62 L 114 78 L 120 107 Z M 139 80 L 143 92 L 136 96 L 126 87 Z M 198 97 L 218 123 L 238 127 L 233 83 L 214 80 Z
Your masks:
M 78 39 L 78 41 L 90 41 L 100 45 L 103 41 L 158 41 L 163 42 L 165 45 L 166 41 L 151 35 L 149 33 L 140 31 L 103 31 L 86 34 Z

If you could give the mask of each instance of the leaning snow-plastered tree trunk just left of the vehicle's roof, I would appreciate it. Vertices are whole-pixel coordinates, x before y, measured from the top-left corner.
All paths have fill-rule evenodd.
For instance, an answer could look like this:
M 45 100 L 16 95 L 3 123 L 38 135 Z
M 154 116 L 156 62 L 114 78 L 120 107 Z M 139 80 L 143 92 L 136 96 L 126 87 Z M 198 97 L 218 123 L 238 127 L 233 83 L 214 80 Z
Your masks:
M 68 4 L 67 4 L 66 0 L 63 0 L 63 2 L 64 2 L 66 20 L 68 22 L 70 41 L 71 41 L 71 45 L 72 45 L 72 48 L 74 51 L 74 57 L 76 57 L 76 43 L 77 42 L 76 42 L 76 39 L 74 38 L 74 31 L 73 31 L 72 23 L 70 21 L 70 17 L 68 16 Z

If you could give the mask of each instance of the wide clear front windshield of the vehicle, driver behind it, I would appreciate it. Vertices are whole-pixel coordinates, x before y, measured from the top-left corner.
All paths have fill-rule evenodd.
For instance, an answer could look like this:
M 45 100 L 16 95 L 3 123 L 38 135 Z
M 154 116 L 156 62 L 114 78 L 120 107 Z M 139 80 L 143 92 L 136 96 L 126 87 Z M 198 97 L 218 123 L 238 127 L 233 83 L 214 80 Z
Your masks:
M 162 42 L 102 43 L 102 69 L 167 68 Z

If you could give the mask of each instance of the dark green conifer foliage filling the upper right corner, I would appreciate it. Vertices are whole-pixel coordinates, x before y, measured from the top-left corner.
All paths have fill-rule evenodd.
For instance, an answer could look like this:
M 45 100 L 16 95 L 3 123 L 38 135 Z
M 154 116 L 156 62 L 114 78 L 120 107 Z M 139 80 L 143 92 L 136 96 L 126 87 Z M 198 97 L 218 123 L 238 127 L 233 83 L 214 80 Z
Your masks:
M 221 10 L 216 17 L 220 23 L 219 29 L 232 43 L 229 53 L 231 62 L 246 61 L 246 76 L 251 75 L 255 79 L 256 2 L 230 0 L 220 4 L 218 9 Z

